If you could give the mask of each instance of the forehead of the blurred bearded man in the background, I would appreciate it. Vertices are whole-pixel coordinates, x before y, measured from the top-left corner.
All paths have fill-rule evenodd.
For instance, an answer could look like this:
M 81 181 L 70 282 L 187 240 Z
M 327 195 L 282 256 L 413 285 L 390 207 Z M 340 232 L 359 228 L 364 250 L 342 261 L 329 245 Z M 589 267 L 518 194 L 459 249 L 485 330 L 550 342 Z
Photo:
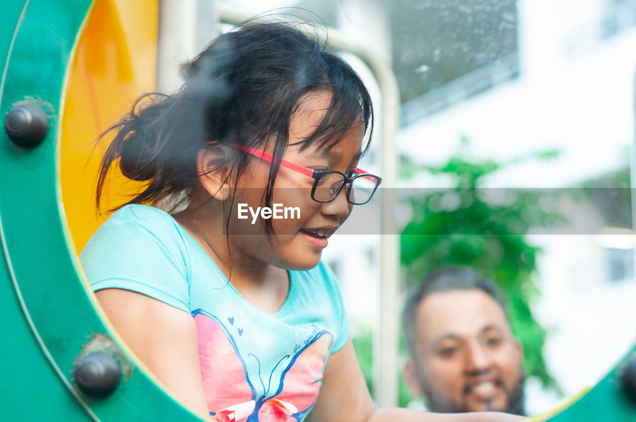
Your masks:
M 478 336 L 488 327 L 509 331 L 501 306 L 480 289 L 431 293 L 417 309 L 416 331 L 420 341 L 443 336 Z

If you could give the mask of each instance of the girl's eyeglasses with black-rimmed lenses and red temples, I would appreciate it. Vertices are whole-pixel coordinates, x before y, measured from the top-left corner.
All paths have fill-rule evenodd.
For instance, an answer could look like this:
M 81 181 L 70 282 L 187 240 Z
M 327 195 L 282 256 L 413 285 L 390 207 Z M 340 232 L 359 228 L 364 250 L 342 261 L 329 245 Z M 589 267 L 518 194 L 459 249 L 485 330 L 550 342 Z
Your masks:
M 270 163 L 273 161 L 272 154 L 258 151 L 258 149 L 240 145 L 233 145 L 233 147 L 269 161 Z M 347 202 L 354 205 L 363 205 L 371 200 L 376 189 L 380 186 L 380 182 L 382 182 L 382 178 L 375 174 L 364 172 L 364 170 L 360 168 L 356 168 L 356 170 L 349 172 L 347 175 L 338 172 L 338 170 L 313 170 L 312 168 L 303 167 L 287 160 L 280 160 L 280 166 L 312 177 L 314 179 L 312 200 L 317 202 L 335 200 L 336 196 L 342 191 L 342 188 L 347 186 L 347 189 L 345 189 Z

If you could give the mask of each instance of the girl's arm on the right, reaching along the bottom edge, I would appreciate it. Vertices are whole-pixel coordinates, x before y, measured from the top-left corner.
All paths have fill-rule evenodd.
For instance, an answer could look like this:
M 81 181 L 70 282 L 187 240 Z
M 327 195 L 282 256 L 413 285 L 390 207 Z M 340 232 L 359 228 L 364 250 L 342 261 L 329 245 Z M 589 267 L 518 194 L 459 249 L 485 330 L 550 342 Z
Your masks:
M 432 413 L 411 409 L 377 409 L 364 383 L 351 339 L 329 356 L 322 386 L 308 420 L 312 422 L 512 422 L 523 416 L 500 412 Z

